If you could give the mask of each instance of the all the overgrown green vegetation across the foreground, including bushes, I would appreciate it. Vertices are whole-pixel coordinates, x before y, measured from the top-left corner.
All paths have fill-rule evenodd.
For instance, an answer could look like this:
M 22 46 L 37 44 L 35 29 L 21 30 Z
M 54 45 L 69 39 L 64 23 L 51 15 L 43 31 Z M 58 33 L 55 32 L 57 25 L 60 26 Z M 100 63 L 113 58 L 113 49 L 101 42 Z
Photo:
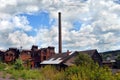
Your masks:
M 21 63 L 20 60 L 16 60 L 14 65 L 0 63 L 0 71 L 10 74 L 10 78 L 15 80 L 120 80 L 120 73 L 112 74 L 111 69 L 99 67 L 87 55 L 79 55 L 76 65 L 65 70 L 57 70 L 54 66 L 28 69 L 23 68 Z

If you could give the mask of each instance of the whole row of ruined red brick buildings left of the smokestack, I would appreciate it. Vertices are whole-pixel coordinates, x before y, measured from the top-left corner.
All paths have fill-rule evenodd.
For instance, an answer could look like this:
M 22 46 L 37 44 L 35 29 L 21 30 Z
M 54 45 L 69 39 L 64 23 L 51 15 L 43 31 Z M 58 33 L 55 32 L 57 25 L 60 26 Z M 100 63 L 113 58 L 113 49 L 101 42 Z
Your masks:
M 23 61 L 24 66 L 39 67 L 40 62 L 48 59 L 55 54 L 54 47 L 40 48 L 33 45 L 30 50 L 19 50 L 17 48 L 9 48 L 4 53 L 4 62 L 12 63 L 16 59 L 20 58 Z

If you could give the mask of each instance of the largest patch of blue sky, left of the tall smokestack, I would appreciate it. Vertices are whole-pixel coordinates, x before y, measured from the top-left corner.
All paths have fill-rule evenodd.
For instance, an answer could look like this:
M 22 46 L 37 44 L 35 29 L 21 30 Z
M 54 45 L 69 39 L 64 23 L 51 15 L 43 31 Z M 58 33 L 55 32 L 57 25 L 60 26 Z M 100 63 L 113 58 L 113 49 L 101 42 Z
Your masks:
M 51 26 L 50 22 L 50 17 L 49 17 L 49 13 L 47 12 L 39 12 L 35 15 L 28 15 L 28 14 L 23 14 L 24 16 L 27 17 L 28 21 L 30 22 L 30 25 L 38 28 L 41 25 L 42 26 L 47 26 L 47 28 L 49 28 L 49 26 Z

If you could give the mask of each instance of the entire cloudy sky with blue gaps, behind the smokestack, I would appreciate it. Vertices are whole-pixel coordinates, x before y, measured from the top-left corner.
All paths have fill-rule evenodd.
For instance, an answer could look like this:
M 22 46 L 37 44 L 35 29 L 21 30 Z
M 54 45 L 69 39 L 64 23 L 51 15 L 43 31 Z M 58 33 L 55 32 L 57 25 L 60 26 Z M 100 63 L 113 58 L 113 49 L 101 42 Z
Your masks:
M 0 0 L 0 49 L 58 49 L 62 13 L 63 51 L 120 49 L 120 0 Z

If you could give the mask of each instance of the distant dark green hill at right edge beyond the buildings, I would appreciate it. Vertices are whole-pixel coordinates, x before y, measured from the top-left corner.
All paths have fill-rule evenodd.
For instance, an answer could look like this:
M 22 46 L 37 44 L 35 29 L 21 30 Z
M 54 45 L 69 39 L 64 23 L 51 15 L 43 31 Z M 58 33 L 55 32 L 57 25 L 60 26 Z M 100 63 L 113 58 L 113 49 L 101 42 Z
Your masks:
M 103 60 L 116 59 L 120 55 L 120 50 L 101 52 Z

